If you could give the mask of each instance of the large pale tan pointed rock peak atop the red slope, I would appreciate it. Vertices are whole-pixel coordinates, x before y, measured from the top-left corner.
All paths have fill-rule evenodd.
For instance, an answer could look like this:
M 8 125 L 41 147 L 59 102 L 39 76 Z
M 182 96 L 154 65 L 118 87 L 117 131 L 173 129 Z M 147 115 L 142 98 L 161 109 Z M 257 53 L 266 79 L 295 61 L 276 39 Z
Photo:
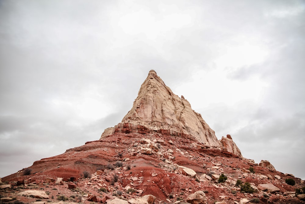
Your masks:
M 106 129 L 101 139 L 114 132 L 157 132 L 186 137 L 214 147 L 221 145 L 201 115 L 192 110 L 183 96 L 175 95 L 154 70 L 149 71 L 122 122 L 113 129 Z

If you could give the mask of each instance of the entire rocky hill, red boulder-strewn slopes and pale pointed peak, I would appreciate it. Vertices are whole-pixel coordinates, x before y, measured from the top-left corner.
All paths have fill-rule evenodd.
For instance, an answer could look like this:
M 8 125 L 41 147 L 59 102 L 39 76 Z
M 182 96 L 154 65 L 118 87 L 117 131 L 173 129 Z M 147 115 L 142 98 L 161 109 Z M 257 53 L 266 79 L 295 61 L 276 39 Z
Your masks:
M 0 189 L 1 202 L 11 204 L 239 204 L 305 203 L 303 187 L 268 161 L 243 158 L 230 135 L 217 140 L 151 70 L 121 123 L 2 178 Z

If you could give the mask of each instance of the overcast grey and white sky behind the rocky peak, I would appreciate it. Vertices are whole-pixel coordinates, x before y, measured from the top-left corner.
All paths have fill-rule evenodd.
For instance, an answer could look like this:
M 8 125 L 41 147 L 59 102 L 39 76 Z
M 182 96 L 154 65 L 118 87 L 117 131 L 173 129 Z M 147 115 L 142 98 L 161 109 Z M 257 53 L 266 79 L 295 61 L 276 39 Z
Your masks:
M 99 139 L 150 69 L 305 179 L 304 1 L 0 1 L 0 177 Z

